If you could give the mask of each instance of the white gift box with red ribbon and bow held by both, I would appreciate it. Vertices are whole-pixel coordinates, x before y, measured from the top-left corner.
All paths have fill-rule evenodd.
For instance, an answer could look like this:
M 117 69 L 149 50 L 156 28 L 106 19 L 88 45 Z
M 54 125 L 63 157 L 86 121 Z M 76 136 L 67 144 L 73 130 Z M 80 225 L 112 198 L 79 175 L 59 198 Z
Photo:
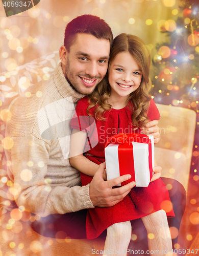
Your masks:
M 118 186 L 136 182 L 136 187 L 147 187 L 153 176 L 154 136 L 117 134 L 105 145 L 107 180 L 130 174 L 131 179 Z

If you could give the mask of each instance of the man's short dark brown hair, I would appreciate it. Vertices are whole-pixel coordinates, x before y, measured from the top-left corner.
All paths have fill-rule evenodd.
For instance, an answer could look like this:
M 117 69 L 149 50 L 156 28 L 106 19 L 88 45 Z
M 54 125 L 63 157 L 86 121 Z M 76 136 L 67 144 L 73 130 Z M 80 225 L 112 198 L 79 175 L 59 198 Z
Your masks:
M 98 39 L 107 39 L 110 46 L 113 43 L 113 34 L 109 25 L 104 19 L 97 16 L 85 14 L 78 16 L 68 23 L 64 34 L 64 46 L 66 50 L 70 51 L 70 46 L 76 40 L 76 35 L 85 33 L 95 36 Z

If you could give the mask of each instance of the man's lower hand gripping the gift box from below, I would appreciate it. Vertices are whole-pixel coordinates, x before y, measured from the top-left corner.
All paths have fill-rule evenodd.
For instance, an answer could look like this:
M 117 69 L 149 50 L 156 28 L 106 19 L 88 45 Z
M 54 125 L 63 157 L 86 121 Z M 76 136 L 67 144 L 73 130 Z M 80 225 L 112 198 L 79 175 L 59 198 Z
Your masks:
M 103 179 L 104 170 L 106 168 L 105 162 L 100 164 L 89 188 L 90 200 L 94 206 L 110 207 L 120 202 L 124 197 L 129 194 L 135 182 L 117 188 L 112 188 L 119 183 L 129 180 L 131 175 L 123 175 L 121 177 L 105 181 Z

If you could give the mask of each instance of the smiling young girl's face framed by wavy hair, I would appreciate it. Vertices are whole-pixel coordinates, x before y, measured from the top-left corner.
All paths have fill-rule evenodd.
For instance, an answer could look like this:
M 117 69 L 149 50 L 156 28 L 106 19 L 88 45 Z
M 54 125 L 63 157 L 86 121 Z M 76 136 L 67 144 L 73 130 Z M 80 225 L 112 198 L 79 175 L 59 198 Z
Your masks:
M 142 71 L 129 52 L 120 52 L 109 67 L 109 84 L 111 97 L 115 100 L 127 100 L 142 79 Z

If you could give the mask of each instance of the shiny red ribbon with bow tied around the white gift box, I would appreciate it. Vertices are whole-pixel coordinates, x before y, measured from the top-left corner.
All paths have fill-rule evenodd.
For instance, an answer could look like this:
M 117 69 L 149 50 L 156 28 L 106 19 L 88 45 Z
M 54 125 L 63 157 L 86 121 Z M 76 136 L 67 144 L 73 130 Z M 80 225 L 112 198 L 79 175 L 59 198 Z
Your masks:
M 131 181 L 135 181 L 135 168 L 134 168 L 134 158 L 133 158 L 133 144 L 132 141 L 139 143 L 148 144 L 148 164 L 150 169 L 150 180 L 153 176 L 153 167 L 152 167 L 152 144 L 150 138 L 145 134 L 125 134 L 119 133 L 111 136 L 105 145 L 105 148 L 110 143 L 118 143 L 118 158 L 119 158 L 119 173 L 120 176 L 125 174 L 131 174 L 131 179 L 124 181 L 121 185 L 126 185 Z

